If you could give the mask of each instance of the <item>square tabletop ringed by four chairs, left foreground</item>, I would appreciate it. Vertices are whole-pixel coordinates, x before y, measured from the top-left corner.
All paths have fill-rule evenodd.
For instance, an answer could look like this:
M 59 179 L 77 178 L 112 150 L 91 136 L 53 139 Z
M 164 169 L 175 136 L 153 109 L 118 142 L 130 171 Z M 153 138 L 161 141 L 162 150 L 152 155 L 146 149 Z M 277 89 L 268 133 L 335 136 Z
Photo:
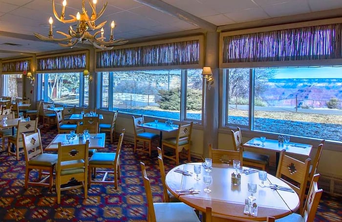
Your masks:
M 89 138 L 89 149 L 101 149 L 105 148 L 105 138 L 106 133 L 90 133 Z M 57 136 L 47 145 L 45 151 L 58 151 L 58 143 L 66 143 L 66 134 L 57 134 Z M 70 140 L 70 145 L 72 144 L 85 144 L 85 140 L 79 140 L 78 135 L 75 139 Z M 66 144 L 64 144 L 66 145 Z

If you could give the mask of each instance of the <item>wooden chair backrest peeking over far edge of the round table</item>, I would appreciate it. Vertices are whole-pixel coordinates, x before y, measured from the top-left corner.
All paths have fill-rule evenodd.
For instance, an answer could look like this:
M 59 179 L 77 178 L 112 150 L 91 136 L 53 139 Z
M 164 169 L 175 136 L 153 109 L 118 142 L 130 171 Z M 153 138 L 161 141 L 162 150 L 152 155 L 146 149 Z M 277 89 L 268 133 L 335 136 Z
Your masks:
M 213 145 L 209 144 L 209 158 L 212 158 L 214 164 L 233 165 L 233 160 L 239 160 L 240 166 L 243 166 L 242 149 L 239 151 L 213 149 Z

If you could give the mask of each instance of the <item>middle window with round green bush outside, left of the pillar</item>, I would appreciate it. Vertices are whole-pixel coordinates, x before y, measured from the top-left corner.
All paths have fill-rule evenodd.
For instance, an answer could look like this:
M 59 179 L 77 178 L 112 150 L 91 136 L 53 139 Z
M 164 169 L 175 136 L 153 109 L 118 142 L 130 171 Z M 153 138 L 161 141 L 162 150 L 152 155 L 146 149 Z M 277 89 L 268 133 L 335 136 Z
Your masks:
M 103 72 L 100 79 L 103 109 L 201 121 L 201 70 Z

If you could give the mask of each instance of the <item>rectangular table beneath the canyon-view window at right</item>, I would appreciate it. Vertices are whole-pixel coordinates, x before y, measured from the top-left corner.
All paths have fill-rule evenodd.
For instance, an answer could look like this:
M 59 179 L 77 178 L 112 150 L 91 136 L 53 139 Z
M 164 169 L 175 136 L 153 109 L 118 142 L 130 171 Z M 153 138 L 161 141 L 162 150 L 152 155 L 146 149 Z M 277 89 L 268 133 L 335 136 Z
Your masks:
M 279 154 L 281 150 L 285 149 L 286 153 L 309 157 L 311 149 L 312 149 L 312 145 L 310 144 L 300 144 L 300 143 L 290 142 L 289 145 L 286 146 L 284 145 L 284 143 L 281 143 L 281 144 L 278 143 L 278 140 L 271 140 L 271 139 L 266 139 L 266 142 L 262 144 L 260 141 L 260 137 L 255 137 L 251 139 L 247 143 L 243 144 L 243 147 L 264 149 L 264 150 L 276 152 L 276 166 L 277 167 L 279 163 Z

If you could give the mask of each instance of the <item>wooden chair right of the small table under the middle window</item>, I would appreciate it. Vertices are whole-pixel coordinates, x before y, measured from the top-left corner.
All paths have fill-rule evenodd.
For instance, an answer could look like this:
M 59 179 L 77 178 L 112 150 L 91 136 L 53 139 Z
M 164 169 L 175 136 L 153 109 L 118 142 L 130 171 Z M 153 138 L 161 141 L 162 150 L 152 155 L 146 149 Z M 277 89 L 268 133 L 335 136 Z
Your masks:
M 190 155 L 190 141 L 191 141 L 191 132 L 192 132 L 192 124 L 180 125 L 178 126 L 177 137 L 166 138 L 162 140 L 162 153 L 163 157 L 176 161 L 176 165 L 179 165 L 179 152 L 183 149 L 188 151 L 188 161 L 191 161 Z M 165 154 L 165 148 L 169 147 L 174 149 L 174 155 L 169 156 Z

